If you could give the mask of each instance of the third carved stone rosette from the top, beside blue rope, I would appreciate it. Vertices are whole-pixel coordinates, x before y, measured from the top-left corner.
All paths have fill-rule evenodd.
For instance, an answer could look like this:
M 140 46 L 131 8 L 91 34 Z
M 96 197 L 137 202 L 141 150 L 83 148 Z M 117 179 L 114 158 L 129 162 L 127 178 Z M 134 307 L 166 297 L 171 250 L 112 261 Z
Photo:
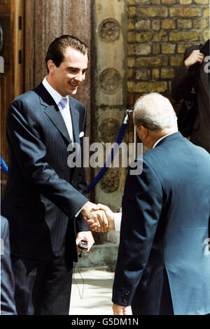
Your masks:
M 120 124 L 118 120 L 113 118 L 104 119 L 101 125 L 99 125 L 99 134 L 104 143 L 114 143 L 118 137 L 119 130 Z

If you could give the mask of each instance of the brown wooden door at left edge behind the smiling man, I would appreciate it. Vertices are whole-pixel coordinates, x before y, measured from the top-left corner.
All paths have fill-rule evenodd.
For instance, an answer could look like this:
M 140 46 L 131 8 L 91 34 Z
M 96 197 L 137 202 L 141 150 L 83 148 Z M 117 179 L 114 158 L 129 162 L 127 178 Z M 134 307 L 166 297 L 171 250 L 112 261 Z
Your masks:
M 6 113 L 10 102 L 24 91 L 24 8 L 25 0 L 0 0 L 3 31 L 3 73 L 0 73 L 1 157 L 8 164 Z M 1 195 L 7 175 L 1 169 Z

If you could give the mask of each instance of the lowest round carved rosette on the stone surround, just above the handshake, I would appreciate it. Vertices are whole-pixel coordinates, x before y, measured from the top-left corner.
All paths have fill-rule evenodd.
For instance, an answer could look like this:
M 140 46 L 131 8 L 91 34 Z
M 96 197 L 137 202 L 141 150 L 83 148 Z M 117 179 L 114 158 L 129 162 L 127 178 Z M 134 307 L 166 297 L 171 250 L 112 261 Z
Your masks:
M 101 179 L 101 188 L 106 193 L 116 192 L 120 184 L 120 175 L 115 169 L 108 169 Z

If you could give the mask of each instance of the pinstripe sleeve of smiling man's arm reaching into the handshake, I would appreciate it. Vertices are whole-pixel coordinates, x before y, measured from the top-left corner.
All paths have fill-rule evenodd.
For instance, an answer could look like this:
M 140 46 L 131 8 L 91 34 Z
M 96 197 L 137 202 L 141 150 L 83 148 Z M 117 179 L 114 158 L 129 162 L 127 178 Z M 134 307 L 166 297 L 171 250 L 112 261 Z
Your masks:
M 35 112 L 35 111 L 34 111 Z M 8 110 L 7 135 L 12 151 L 25 179 L 73 218 L 88 201 L 87 197 L 73 188 L 48 164 L 46 146 L 41 140 L 36 113 L 28 104 L 14 101 Z

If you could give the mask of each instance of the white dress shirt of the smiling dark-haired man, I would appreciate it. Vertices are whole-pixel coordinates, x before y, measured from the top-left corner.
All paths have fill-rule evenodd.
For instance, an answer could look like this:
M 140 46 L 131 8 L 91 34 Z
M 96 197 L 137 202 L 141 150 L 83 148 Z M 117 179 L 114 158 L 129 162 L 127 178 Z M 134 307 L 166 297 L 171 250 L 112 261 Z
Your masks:
M 58 109 L 59 109 L 59 111 L 62 114 L 62 117 L 64 119 L 66 129 L 69 132 L 69 137 L 71 139 L 71 142 L 73 143 L 73 128 L 72 128 L 72 122 L 71 122 L 71 112 L 70 112 L 70 109 L 69 109 L 69 96 L 62 97 L 62 95 L 59 94 L 59 92 L 57 92 L 54 88 L 51 87 L 51 85 L 48 83 L 48 80 L 47 80 L 46 76 L 45 76 L 45 78 L 43 78 L 42 83 L 43 83 L 43 86 L 46 88 L 46 90 L 48 90 L 50 96 L 52 96 L 55 103 L 57 104 Z M 66 103 L 66 106 L 64 107 L 64 109 L 59 104 L 59 102 L 62 100 L 62 98 L 67 99 L 67 103 Z

